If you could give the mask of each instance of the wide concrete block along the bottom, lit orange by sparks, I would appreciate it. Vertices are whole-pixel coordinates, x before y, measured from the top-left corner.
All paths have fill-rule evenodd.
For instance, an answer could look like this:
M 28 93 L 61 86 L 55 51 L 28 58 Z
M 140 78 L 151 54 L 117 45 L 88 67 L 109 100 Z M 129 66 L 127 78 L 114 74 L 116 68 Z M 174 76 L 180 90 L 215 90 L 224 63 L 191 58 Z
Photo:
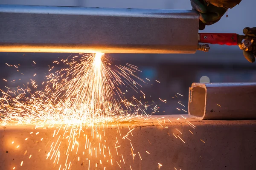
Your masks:
M 96 127 L 1 126 L 0 169 L 255 169 L 255 120 L 198 121 L 186 116 Z

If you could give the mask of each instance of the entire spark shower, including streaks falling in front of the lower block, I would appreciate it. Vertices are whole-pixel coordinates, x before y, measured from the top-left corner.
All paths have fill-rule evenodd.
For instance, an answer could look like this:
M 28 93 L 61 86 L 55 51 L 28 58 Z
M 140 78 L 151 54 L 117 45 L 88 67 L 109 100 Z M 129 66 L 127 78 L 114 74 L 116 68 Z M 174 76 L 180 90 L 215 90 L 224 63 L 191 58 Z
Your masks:
M 112 166 L 116 164 L 121 168 L 126 164 L 123 156 L 125 153 L 120 150 L 124 145 L 119 144 L 120 140 L 129 143 L 133 159 L 137 158 L 136 152 L 143 150 L 134 148 L 128 138 L 133 136 L 134 128 L 130 129 L 128 126 L 128 132 L 122 135 L 119 122 L 147 118 L 151 114 L 147 114 L 146 111 L 153 110 L 155 113 L 158 107 L 154 106 L 156 105 L 154 102 L 142 103 L 134 96 L 131 102 L 125 98 L 123 87 L 138 93 L 139 87 L 142 87 L 140 83 L 145 83 L 135 75 L 140 71 L 137 66 L 112 65 L 111 58 L 101 53 L 81 55 L 81 57 L 62 59 L 60 62 L 54 61 L 55 64 L 63 63 L 66 68 L 47 75 L 46 81 L 41 83 L 44 85 L 43 90 L 38 90 L 38 83 L 32 79 L 23 86 L 17 86 L 16 89 L 6 87 L 7 91 L 1 90 L 3 94 L 0 98 L 0 115 L 3 116 L 1 124 L 33 124 L 36 125 L 35 129 L 55 128 L 52 139 L 44 139 L 39 131 L 31 131 L 29 134 L 39 136 L 40 141 L 49 140 L 45 146 L 49 148 L 46 159 L 51 160 L 54 166 L 58 164 L 59 169 L 72 167 L 75 160 L 72 158 L 73 154 L 87 155 L 86 159 L 84 156 L 82 160 L 79 156 L 76 159 L 82 161 L 82 166 L 85 162 L 88 169 L 93 166 L 99 167 L 103 163 L 111 163 Z M 49 71 L 53 71 L 54 66 L 49 68 Z M 35 76 L 36 74 L 33 74 L 33 77 Z M 8 79 L 3 80 L 8 82 Z M 140 92 L 145 99 L 146 95 Z M 108 136 L 105 136 L 105 128 L 108 126 L 118 129 L 114 145 L 108 143 Z M 27 139 L 28 137 L 24 138 L 25 141 Z M 65 143 L 68 145 L 66 146 Z M 38 153 L 40 151 L 41 149 Z M 23 155 L 25 156 L 27 152 L 26 150 Z M 115 152 L 116 156 L 114 156 Z M 149 154 L 148 151 L 144 150 L 144 152 Z M 142 160 L 143 155 L 139 152 L 138 155 L 137 159 Z M 29 159 L 33 159 L 31 154 Z M 24 164 L 26 165 L 26 162 L 22 161 L 20 166 Z M 127 166 L 131 168 L 130 164 Z

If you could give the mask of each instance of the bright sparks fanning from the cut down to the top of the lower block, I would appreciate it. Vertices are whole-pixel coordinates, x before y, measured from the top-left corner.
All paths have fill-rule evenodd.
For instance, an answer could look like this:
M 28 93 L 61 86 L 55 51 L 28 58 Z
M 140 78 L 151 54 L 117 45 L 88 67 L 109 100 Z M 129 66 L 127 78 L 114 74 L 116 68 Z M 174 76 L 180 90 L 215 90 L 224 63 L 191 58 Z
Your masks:
M 137 92 L 141 87 L 140 82 L 144 81 L 134 74 L 139 71 L 136 66 L 112 65 L 111 58 L 102 53 L 83 54 L 53 63 L 61 62 L 68 68 L 49 74 L 41 91 L 32 79 L 16 90 L 1 90 L 2 124 L 93 125 L 128 121 L 146 113 L 148 105 L 135 97 L 129 102 L 121 89 L 126 86 Z

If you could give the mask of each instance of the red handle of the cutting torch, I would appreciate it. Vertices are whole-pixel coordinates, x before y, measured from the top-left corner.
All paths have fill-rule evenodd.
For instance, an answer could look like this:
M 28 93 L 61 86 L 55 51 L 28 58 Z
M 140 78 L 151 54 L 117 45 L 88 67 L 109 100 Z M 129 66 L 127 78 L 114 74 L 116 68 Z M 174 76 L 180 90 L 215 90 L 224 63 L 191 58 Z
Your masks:
M 230 33 L 199 33 L 200 40 L 198 42 L 219 44 L 219 45 L 237 45 L 238 34 Z

